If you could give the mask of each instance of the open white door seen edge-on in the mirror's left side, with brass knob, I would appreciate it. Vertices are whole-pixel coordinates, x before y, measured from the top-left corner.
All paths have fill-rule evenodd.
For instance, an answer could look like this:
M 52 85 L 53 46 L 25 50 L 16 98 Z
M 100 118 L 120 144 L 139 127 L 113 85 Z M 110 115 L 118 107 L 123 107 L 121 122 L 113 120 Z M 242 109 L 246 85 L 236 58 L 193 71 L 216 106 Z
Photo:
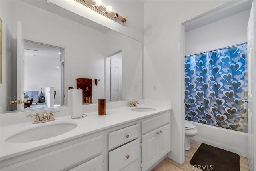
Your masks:
M 24 109 L 24 103 L 18 104 L 18 100 L 24 100 L 24 39 L 22 37 L 21 22 L 17 23 L 17 110 Z

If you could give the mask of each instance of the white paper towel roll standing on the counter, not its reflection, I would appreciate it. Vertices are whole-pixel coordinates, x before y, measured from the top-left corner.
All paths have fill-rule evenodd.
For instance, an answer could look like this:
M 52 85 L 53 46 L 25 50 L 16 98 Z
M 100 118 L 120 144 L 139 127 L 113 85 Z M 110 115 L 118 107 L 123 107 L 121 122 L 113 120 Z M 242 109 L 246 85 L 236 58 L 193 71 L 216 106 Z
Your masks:
M 82 89 L 73 89 L 72 91 L 73 118 L 83 116 L 83 94 Z

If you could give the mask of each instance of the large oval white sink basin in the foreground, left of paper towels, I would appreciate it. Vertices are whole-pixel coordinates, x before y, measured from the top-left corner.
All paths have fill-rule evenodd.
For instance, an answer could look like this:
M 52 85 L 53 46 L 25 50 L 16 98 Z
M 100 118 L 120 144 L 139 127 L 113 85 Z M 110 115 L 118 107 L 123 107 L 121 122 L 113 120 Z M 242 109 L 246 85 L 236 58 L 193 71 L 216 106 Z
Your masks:
M 15 135 L 12 135 L 6 139 L 6 143 L 27 143 L 32 141 L 38 141 L 42 139 L 47 139 L 64 134 L 77 127 L 74 123 L 54 123 L 42 126 L 30 128 L 21 131 Z

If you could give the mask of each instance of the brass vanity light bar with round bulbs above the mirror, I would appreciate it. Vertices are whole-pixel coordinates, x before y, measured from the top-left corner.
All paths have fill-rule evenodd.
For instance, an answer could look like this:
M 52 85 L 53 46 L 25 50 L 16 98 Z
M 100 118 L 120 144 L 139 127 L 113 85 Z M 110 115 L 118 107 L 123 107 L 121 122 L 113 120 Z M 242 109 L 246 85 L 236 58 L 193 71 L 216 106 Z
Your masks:
M 98 12 L 99 14 L 102 14 L 107 18 L 110 18 L 111 20 L 114 20 L 124 26 L 126 25 L 127 19 L 113 12 L 112 6 L 110 5 L 108 5 L 107 7 L 102 6 L 102 0 L 95 0 L 95 1 L 94 0 L 75 0 L 75 1 L 90 8 L 91 10 Z

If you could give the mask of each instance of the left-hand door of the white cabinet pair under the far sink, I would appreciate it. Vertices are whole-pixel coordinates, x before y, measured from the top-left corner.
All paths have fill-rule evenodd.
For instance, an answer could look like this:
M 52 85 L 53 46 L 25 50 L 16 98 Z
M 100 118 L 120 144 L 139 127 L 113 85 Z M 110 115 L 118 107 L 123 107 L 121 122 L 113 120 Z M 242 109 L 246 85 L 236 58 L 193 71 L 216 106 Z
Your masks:
M 147 170 L 158 161 L 158 129 L 151 131 L 142 138 L 142 170 Z

